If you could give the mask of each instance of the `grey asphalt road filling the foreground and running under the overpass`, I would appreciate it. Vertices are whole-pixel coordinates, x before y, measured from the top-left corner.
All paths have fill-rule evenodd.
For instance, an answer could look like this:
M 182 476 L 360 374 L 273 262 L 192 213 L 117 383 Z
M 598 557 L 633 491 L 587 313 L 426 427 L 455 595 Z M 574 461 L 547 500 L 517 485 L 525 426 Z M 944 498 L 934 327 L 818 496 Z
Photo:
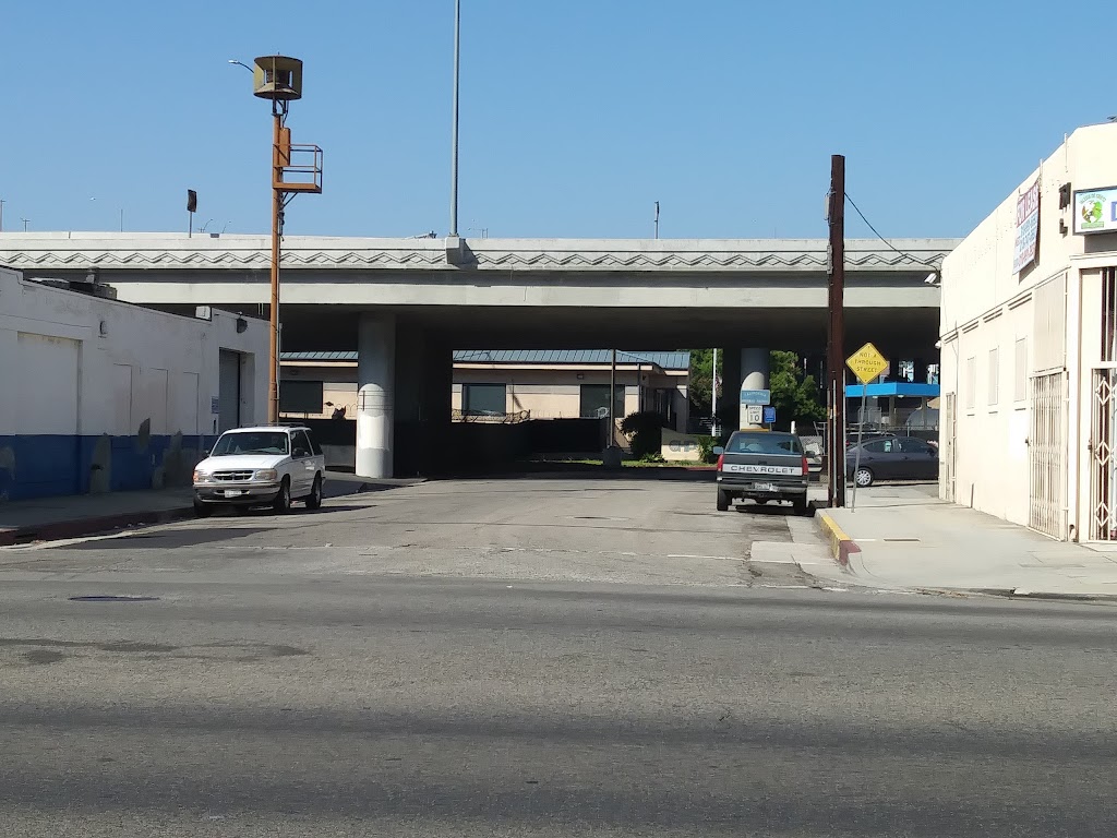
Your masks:
M 0 835 L 1117 831 L 1113 610 L 822 590 L 811 522 L 712 501 L 427 484 L 0 551 Z

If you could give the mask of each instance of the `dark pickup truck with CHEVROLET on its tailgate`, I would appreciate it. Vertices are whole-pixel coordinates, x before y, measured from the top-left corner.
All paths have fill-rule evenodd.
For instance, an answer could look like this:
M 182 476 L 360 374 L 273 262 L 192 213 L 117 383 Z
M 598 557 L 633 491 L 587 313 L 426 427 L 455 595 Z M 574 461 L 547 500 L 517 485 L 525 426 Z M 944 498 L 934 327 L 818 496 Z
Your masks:
M 734 499 L 757 503 L 789 501 L 799 514 L 808 511 L 810 464 L 795 434 L 738 430 L 715 448 L 717 457 L 717 510 L 725 512 Z

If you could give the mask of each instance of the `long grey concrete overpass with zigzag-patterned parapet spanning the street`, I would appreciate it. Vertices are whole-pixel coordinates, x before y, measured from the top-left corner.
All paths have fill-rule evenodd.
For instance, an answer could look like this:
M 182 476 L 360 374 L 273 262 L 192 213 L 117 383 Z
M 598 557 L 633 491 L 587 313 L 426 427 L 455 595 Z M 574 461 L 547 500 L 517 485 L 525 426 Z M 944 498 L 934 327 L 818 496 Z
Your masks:
M 936 356 L 954 239 L 847 242 L 847 343 Z M 262 236 L 3 232 L 0 264 L 109 284 L 170 311 L 267 316 Z M 822 355 L 827 244 L 818 239 L 284 239 L 285 350 L 357 350 L 359 469 L 392 472 L 393 427 L 449 412 L 454 349 L 727 351 L 726 381 L 766 380 L 768 349 Z M 742 366 L 743 364 L 743 366 Z

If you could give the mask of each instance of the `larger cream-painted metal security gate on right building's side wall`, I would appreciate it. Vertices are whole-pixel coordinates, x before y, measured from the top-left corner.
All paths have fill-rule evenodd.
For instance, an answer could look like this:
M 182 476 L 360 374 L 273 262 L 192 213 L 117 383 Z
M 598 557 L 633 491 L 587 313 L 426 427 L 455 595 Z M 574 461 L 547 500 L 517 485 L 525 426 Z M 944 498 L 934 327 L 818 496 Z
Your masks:
M 1032 378 L 1028 525 L 1054 539 L 1062 537 L 1063 442 L 1066 377 L 1062 372 Z

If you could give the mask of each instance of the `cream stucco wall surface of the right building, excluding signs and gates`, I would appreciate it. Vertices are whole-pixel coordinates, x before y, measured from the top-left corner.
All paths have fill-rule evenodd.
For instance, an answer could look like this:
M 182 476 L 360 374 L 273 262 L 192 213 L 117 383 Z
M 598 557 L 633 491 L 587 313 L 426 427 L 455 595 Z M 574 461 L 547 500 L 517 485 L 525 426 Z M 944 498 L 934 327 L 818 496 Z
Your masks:
M 1086 523 L 1089 477 L 1081 464 L 1089 460 L 1090 366 L 1099 360 L 1095 333 L 1100 327 L 1100 280 L 1097 272 L 1078 266 L 1091 254 L 1104 259 L 1105 251 L 1115 251 L 1109 264 L 1117 264 L 1117 235 L 1075 236 L 1073 206 L 1060 209 L 1059 188 L 1117 183 L 1115 149 L 1117 125 L 1076 131 L 943 265 L 941 381 L 944 400 L 954 393 L 957 404 L 954 499 L 1029 523 L 1032 381 L 1042 373 L 1066 371 L 1063 537 L 1081 532 Z M 1039 258 L 1015 274 L 1018 196 L 1037 177 Z M 947 445 L 941 447 L 944 458 L 948 450 Z

